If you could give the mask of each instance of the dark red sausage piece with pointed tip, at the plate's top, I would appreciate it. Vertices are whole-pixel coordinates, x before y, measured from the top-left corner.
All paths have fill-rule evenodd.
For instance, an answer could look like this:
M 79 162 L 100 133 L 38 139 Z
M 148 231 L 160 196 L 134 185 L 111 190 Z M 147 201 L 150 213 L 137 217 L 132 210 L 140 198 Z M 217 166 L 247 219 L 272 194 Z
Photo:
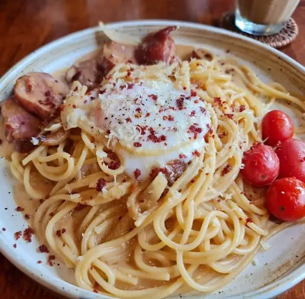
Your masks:
M 136 47 L 135 56 L 139 64 L 171 63 L 176 59 L 176 45 L 169 34 L 177 26 L 169 26 L 148 34 Z

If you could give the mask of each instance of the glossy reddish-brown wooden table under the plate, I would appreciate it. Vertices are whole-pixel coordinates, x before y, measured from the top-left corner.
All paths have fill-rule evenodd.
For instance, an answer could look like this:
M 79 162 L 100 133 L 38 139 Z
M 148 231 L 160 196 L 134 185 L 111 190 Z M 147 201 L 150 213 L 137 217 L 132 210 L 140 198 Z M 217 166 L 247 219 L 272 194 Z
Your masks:
M 0 76 L 43 44 L 98 21 L 169 19 L 215 24 L 234 0 L 0 0 Z M 305 65 L 305 0 L 293 15 L 297 39 L 282 51 Z M 0 255 L 0 298 L 60 298 Z M 277 299 L 305 298 L 305 281 Z

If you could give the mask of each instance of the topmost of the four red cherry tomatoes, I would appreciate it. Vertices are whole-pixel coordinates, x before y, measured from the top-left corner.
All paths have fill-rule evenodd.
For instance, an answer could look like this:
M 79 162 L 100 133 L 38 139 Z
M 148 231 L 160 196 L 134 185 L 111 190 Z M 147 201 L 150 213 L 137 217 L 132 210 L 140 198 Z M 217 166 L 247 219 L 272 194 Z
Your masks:
M 290 117 L 281 110 L 269 111 L 261 122 L 262 138 L 265 144 L 276 146 L 280 141 L 293 136 L 294 126 Z

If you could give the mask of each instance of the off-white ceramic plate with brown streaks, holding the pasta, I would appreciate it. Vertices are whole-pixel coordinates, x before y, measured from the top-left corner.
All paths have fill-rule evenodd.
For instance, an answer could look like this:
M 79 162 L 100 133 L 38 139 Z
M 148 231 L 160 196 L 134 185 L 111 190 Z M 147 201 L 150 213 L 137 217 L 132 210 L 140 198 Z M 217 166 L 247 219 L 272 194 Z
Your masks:
M 192 44 L 211 49 L 221 55 L 232 56 L 250 65 L 264 81 L 277 81 L 290 91 L 305 94 L 305 68 L 281 52 L 235 33 L 180 21 L 130 21 L 113 23 L 112 29 L 142 37 L 148 31 L 168 25 L 179 25 L 173 33 L 178 44 Z M 28 71 L 53 73 L 69 67 L 73 62 L 99 47 L 105 36 L 98 28 L 90 28 L 61 38 L 34 51 L 13 66 L 0 79 L 0 100 L 12 92 L 18 77 Z M 46 255 L 38 253 L 35 239 L 25 243 L 14 240 L 16 231 L 24 230 L 26 223 L 21 213 L 16 213 L 12 197 L 13 182 L 5 160 L 0 159 L 0 251 L 26 275 L 49 289 L 69 298 L 106 298 L 80 289 L 74 285 L 73 272 L 63 265 L 50 267 Z M 1 230 L 2 227 L 6 231 Z M 305 278 L 305 225 L 291 227 L 269 242 L 270 250 L 261 251 L 257 265 L 249 265 L 233 282 L 214 294 L 195 294 L 180 298 L 205 299 L 266 299 L 276 296 Z M 13 244 L 17 243 L 17 248 Z M 37 264 L 42 260 L 42 264 Z

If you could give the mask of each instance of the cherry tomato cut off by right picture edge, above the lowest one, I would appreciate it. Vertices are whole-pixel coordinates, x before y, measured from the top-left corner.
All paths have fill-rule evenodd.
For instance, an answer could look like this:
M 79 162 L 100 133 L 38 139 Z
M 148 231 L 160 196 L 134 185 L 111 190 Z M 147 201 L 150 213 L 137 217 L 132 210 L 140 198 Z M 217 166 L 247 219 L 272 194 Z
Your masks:
M 305 143 L 298 139 L 288 139 L 275 152 L 280 159 L 279 177 L 296 177 L 305 182 Z

